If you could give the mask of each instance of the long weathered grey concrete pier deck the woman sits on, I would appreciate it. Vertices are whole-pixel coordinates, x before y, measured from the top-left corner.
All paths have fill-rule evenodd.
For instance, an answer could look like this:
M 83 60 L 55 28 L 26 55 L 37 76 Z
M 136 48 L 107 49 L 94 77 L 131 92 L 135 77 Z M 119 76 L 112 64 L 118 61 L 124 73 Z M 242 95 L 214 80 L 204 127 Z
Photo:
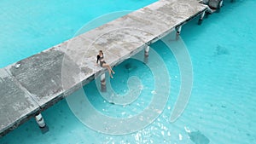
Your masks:
M 197 0 L 160 0 L 4 67 L 0 137 L 105 72 L 95 66 L 98 50 L 118 65 L 206 10 Z

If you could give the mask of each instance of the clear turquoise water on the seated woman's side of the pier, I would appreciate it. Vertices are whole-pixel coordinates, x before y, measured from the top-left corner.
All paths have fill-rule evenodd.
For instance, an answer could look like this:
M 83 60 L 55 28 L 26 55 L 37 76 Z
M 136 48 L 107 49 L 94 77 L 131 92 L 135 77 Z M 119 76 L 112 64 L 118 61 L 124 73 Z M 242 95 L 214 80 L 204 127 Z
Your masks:
M 201 26 L 196 25 L 197 20 L 183 26 L 182 37 L 191 56 L 194 83 L 189 104 L 175 123 L 170 123 L 169 117 L 180 89 L 180 75 L 172 52 L 159 41 L 151 47 L 166 62 L 172 93 L 164 112 L 145 129 L 129 135 L 98 133 L 80 123 L 64 100 L 43 112 L 48 133 L 41 134 L 31 119 L 1 138 L 0 143 L 256 143 L 255 6 L 254 0 L 225 2 L 220 13 L 209 15 Z M 154 57 L 149 56 L 149 60 Z M 131 71 L 126 69 L 127 64 L 133 67 Z M 125 60 L 114 70 L 111 84 L 116 92 L 125 93 L 125 81 L 137 75 L 142 80 L 142 95 L 130 106 L 119 107 L 105 101 L 91 82 L 84 86 L 91 104 L 112 117 L 141 112 L 151 101 L 152 73 L 137 60 Z M 195 135 L 189 136 L 184 127 Z

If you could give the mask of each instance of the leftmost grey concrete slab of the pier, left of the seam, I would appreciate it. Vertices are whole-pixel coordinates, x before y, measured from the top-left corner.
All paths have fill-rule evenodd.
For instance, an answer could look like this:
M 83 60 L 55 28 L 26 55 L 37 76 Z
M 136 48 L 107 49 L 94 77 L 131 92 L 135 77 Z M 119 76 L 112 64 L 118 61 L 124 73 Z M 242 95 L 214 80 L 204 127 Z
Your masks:
M 4 69 L 0 69 L 0 95 L 1 133 L 15 129 L 23 119 L 39 110 L 29 92 Z

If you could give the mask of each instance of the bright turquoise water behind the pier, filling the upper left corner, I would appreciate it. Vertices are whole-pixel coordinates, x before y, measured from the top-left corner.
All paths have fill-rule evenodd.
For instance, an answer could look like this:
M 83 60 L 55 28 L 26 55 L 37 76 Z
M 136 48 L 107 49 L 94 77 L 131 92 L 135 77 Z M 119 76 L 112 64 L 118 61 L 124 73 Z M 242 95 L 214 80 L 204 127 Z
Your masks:
M 84 24 L 116 11 L 136 10 L 156 0 L 0 2 L 0 67 L 73 37 Z

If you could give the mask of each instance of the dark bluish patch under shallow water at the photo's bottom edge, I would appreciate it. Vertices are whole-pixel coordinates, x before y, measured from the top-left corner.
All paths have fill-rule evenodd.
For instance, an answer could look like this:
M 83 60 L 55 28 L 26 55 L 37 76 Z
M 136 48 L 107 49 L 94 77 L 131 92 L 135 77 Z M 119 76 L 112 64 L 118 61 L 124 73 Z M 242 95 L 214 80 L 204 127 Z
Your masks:
M 200 131 L 192 131 L 189 134 L 189 138 L 191 141 L 195 142 L 195 144 L 208 144 L 210 140 L 206 135 L 201 134 Z

